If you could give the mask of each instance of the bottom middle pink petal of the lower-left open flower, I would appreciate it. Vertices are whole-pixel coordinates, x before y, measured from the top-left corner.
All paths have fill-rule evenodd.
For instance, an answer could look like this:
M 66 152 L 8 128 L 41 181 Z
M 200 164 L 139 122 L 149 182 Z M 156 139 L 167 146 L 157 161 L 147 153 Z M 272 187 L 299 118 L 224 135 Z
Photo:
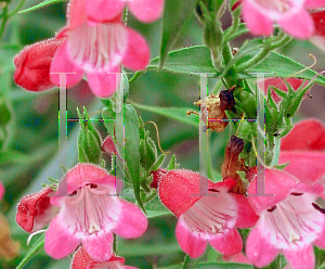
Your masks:
M 82 244 L 89 256 L 95 261 L 106 261 L 113 255 L 113 233 L 101 231 L 82 239 Z

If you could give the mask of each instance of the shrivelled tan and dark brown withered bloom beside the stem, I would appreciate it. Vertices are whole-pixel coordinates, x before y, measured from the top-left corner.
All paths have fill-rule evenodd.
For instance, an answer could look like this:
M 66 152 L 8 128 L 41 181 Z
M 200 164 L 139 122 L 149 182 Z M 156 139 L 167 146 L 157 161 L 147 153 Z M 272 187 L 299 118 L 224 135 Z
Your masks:
M 211 94 L 194 103 L 200 105 L 202 118 L 208 129 L 221 132 L 227 126 L 225 110 L 232 110 L 234 97 L 232 88 L 221 91 L 219 95 Z

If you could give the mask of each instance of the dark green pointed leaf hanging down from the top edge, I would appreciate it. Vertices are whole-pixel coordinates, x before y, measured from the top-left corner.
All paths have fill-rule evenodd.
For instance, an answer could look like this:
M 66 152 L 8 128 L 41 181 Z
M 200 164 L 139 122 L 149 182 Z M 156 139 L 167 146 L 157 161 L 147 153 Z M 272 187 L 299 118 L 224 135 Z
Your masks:
M 159 67 L 165 65 L 168 52 L 178 38 L 183 25 L 193 15 L 198 0 L 166 0 L 162 16 Z

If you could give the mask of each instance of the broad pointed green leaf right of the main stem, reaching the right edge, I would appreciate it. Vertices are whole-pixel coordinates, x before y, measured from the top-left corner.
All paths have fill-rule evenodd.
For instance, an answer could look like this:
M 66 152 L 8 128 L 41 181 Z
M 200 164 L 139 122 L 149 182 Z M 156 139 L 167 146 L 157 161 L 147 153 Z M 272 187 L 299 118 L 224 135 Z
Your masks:
M 308 80 L 311 80 L 317 74 L 312 69 L 308 69 L 301 74 L 295 75 L 295 73 L 300 72 L 303 68 L 306 68 L 304 65 L 273 51 L 264 61 L 251 67 L 249 72 L 269 73 L 265 74 L 265 77 L 297 77 Z M 325 77 L 323 76 L 318 76 L 315 81 L 325 86 Z

